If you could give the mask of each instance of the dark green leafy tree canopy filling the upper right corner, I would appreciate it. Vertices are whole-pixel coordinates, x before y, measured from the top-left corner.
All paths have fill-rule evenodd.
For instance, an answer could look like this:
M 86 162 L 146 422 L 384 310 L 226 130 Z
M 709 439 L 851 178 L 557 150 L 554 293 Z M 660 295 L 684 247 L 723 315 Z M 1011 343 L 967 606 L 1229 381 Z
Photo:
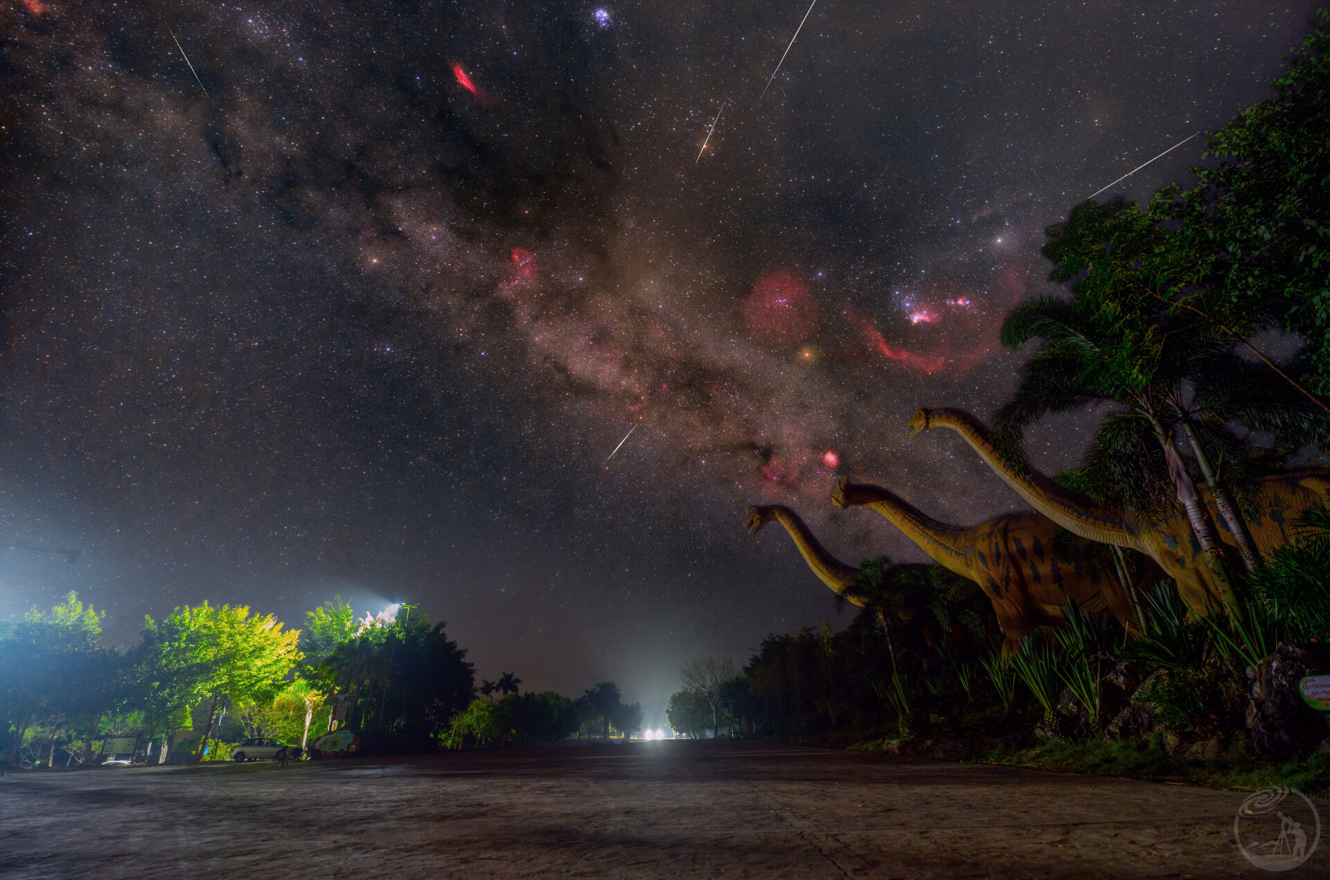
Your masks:
M 1322 395 L 1330 393 L 1327 53 L 1330 13 L 1319 11 L 1273 82 L 1275 96 L 1206 136 L 1205 156 L 1224 161 L 1190 169 L 1200 178 L 1194 187 L 1165 187 L 1150 203 L 1153 215 L 1180 221 L 1188 258 L 1170 304 L 1234 342 L 1267 327 L 1299 334 L 1315 368 L 1313 389 Z

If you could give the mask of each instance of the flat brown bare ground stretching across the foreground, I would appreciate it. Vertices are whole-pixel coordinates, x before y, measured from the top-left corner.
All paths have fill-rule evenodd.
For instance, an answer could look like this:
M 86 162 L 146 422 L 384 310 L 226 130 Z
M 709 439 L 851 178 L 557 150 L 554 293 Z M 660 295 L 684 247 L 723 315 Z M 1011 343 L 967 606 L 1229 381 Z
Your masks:
M 56 770 L 0 778 L 0 876 L 1267 876 L 1244 796 L 729 742 Z

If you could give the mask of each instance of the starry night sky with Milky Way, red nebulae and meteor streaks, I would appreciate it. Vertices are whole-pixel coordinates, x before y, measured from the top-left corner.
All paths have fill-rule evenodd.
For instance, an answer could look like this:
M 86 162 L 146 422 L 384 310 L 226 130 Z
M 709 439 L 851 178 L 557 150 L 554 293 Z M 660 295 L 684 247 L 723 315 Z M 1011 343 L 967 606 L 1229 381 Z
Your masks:
M 906 419 L 991 415 L 1043 229 L 1270 94 L 1314 7 L 5 0 L 0 619 L 410 601 L 664 723 L 684 661 L 849 619 L 746 504 L 855 564 L 924 557 L 839 473 L 1017 509 Z

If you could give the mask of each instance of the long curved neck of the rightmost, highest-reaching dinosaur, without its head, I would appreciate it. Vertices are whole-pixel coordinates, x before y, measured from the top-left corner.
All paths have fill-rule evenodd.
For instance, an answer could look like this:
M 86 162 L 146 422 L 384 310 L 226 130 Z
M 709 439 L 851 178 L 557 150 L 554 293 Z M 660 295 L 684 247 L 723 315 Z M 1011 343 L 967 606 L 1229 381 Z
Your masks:
M 1031 471 L 1029 477 L 1012 471 L 988 440 L 988 428 L 964 409 L 930 409 L 926 427 L 951 428 L 959 433 L 1016 495 L 1068 532 L 1091 541 L 1148 552 L 1137 525 L 1120 512 L 1068 492 L 1037 471 Z

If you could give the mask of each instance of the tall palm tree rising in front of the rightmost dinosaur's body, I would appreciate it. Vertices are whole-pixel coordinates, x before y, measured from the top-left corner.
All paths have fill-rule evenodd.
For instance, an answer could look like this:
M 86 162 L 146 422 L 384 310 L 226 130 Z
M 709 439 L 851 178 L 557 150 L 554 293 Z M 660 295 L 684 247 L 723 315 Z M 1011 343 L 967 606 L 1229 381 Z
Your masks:
M 1124 429 L 1115 431 L 1113 439 L 1134 444 L 1142 433 L 1153 437 L 1168 484 L 1186 509 L 1216 585 L 1232 604 L 1218 538 L 1173 437 L 1180 421 L 1186 423 L 1189 439 L 1196 436 L 1182 405 L 1182 384 L 1193 364 L 1221 356 L 1232 342 L 1220 340 L 1209 326 L 1169 314 L 1157 295 L 1160 284 L 1178 275 L 1180 257 L 1169 247 L 1169 235 L 1136 205 L 1123 201 L 1088 201 L 1072 210 L 1067 223 L 1048 230 L 1043 253 L 1056 263 L 1049 278 L 1073 282 L 1073 299 L 1039 296 L 1013 308 L 1003 322 L 1003 344 L 1020 348 L 1036 338 L 1041 342 L 1023 367 L 1012 400 L 998 413 L 995 439 L 1012 463 L 1023 461 L 1020 436 L 1044 413 L 1105 401 L 1127 407 L 1123 424 L 1115 425 Z M 1200 443 L 1194 449 L 1205 457 Z M 1148 460 L 1141 464 L 1148 465 Z M 1213 468 L 1202 468 L 1202 473 L 1212 477 Z M 1217 493 L 1225 520 L 1234 534 L 1245 534 L 1224 496 L 1225 502 L 1220 502 Z M 1158 496 L 1140 501 L 1165 502 Z M 1250 546 L 1245 556 L 1250 556 Z

